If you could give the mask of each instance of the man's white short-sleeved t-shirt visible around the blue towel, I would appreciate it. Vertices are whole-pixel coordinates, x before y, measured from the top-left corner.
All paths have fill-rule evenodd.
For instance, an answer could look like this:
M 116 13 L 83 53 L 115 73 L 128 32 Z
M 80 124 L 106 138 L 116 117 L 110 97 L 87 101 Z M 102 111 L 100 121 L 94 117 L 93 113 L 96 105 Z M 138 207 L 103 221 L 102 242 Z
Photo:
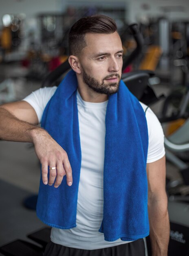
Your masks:
M 35 109 L 39 123 L 44 108 L 57 87 L 41 88 L 32 92 L 24 101 Z M 79 135 L 81 142 L 81 172 L 77 200 L 77 227 L 72 229 L 52 228 L 51 240 L 54 243 L 79 248 L 100 249 L 130 243 L 118 239 L 104 240 L 98 230 L 103 219 L 103 164 L 105 149 L 105 113 L 108 101 L 92 103 L 83 101 L 77 91 Z M 141 103 L 144 111 L 147 106 Z M 150 108 L 146 112 L 149 146 L 147 163 L 165 155 L 164 135 L 160 122 Z

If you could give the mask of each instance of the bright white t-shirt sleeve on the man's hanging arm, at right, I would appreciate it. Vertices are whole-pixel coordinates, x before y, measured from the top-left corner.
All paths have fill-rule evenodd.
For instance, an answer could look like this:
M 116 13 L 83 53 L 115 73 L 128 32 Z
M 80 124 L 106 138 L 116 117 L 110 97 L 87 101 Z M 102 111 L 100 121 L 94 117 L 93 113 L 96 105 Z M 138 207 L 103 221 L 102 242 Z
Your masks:
M 152 163 L 165 155 L 164 133 L 158 118 L 150 108 L 146 111 L 146 120 L 149 137 L 147 163 Z

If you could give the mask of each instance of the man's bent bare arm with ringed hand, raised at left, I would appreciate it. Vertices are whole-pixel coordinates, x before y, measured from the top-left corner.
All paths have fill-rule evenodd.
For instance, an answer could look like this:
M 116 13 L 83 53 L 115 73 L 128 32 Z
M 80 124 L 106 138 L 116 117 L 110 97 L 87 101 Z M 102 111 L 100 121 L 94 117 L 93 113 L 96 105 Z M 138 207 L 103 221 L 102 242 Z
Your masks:
M 72 170 L 66 151 L 37 124 L 36 112 L 26 101 L 0 106 L 0 139 L 32 142 L 42 164 L 44 184 L 51 186 L 55 182 L 54 186 L 58 187 L 66 174 L 68 185 L 72 185 Z M 49 180 L 48 166 L 56 167 L 50 171 Z

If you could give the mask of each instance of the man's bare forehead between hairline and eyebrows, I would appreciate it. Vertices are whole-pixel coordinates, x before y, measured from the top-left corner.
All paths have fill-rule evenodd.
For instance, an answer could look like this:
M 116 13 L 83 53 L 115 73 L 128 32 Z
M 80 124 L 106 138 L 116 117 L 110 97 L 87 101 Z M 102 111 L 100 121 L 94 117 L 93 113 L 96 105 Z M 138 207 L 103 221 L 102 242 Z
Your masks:
M 83 50 L 91 54 L 96 52 L 118 52 L 122 49 L 121 39 L 117 32 L 111 34 L 87 33 L 85 40 L 87 46 Z

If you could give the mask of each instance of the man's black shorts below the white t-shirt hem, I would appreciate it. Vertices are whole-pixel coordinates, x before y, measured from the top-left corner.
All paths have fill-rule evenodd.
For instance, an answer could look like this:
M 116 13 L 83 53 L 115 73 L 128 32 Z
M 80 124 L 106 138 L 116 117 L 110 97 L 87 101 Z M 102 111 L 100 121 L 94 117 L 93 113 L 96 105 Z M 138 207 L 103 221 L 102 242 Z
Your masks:
M 123 245 L 85 250 L 49 242 L 44 256 L 145 256 L 145 244 L 143 239 L 138 239 Z

